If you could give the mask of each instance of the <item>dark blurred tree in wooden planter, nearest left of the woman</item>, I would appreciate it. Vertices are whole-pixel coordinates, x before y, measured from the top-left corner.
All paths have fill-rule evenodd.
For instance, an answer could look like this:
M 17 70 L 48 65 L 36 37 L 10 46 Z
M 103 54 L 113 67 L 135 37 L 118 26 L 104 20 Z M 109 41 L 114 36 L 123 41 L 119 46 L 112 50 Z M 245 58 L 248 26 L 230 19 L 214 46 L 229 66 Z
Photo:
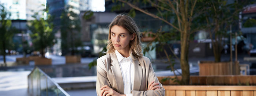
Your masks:
M 69 6 L 70 7 L 70 6 Z M 61 14 L 61 49 L 71 49 L 71 55 L 75 55 L 75 47 L 82 46 L 80 35 L 79 15 L 68 8 Z

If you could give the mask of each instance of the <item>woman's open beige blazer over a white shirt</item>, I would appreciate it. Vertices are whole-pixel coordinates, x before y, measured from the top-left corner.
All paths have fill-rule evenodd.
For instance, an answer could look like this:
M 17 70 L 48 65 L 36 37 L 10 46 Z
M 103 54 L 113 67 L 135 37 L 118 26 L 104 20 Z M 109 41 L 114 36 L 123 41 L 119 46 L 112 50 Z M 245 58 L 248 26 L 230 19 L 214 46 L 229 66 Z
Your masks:
M 157 76 L 152 68 L 150 59 L 147 57 L 140 57 L 133 61 L 134 65 L 134 84 L 131 91 L 133 96 L 164 96 L 165 89 L 158 81 Z M 151 81 L 159 82 L 159 89 L 147 91 L 147 86 Z M 108 85 L 120 94 L 124 94 L 124 83 L 121 69 L 116 57 L 116 54 L 106 54 L 97 59 L 97 95 L 101 95 L 100 88 L 103 85 Z

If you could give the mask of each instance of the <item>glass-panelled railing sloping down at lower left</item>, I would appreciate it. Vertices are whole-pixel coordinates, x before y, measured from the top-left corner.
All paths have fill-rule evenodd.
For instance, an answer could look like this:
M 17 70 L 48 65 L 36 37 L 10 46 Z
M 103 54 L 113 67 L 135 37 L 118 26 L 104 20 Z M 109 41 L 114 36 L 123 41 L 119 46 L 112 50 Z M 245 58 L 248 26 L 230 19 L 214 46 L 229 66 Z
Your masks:
M 35 67 L 27 78 L 30 96 L 70 96 L 38 67 Z

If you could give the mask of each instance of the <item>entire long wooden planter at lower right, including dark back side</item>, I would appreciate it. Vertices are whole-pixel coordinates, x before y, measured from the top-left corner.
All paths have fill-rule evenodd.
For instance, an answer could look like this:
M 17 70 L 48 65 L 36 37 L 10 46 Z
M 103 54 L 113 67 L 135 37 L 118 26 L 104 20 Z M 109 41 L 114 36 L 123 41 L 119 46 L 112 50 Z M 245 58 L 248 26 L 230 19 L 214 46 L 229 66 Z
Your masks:
M 174 78 L 174 76 L 168 76 Z M 158 77 L 161 80 L 166 77 Z M 181 78 L 181 76 L 178 76 Z M 256 75 L 191 76 L 190 85 L 169 79 L 161 82 L 165 96 L 255 96 Z M 247 86 L 241 86 L 246 84 Z

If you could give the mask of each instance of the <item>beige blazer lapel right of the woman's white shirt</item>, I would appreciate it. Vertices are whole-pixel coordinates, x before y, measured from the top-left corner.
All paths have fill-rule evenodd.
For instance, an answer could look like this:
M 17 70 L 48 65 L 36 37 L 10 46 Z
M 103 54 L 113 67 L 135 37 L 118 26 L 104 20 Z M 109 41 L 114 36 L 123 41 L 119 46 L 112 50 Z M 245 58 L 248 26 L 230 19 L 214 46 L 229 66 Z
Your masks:
M 133 90 L 139 91 L 140 85 L 142 82 L 142 67 L 140 66 L 139 59 L 136 59 L 133 61 L 134 65 L 134 84 L 133 84 Z

